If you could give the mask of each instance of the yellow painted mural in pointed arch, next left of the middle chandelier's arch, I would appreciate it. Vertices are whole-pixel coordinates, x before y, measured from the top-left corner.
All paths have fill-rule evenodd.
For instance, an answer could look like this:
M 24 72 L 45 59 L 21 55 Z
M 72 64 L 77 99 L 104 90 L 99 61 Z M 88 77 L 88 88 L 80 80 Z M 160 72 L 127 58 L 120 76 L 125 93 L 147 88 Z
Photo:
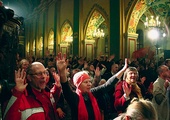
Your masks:
M 61 28 L 61 42 L 72 42 L 73 30 L 68 21 L 66 21 Z

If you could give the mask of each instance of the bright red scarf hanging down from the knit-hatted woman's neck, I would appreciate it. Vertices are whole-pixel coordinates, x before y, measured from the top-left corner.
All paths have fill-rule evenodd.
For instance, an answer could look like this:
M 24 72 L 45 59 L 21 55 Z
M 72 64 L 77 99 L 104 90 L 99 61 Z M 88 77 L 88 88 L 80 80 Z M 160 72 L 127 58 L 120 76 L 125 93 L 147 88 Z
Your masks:
M 78 89 L 76 90 L 76 93 L 79 95 L 78 120 L 88 120 L 88 112 L 86 109 L 86 105 L 84 103 L 84 98 Z M 95 120 L 101 120 L 102 118 L 101 118 L 101 114 L 100 114 L 100 110 L 99 110 L 96 98 L 93 96 L 91 92 L 89 92 L 88 95 L 92 103 Z

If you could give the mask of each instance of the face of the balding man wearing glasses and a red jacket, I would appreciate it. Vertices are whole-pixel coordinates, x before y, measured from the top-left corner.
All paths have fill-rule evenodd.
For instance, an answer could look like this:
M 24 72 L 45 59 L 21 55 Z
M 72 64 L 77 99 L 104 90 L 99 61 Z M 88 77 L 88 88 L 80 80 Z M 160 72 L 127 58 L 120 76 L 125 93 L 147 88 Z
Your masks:
M 47 71 L 41 64 L 36 64 L 32 67 L 32 74 L 30 74 L 30 85 L 41 91 L 45 89 L 47 83 Z

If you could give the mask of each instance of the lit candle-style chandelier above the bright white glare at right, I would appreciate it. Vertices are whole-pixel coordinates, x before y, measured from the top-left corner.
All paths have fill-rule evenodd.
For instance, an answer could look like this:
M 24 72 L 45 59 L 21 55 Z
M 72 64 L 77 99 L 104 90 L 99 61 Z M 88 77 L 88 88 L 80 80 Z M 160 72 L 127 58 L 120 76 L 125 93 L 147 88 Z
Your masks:
M 151 16 L 151 19 L 148 19 L 146 17 L 146 22 L 144 23 L 145 28 L 148 27 L 161 27 L 161 22 L 159 21 L 159 17 L 157 16 L 156 19 L 154 19 L 154 16 Z

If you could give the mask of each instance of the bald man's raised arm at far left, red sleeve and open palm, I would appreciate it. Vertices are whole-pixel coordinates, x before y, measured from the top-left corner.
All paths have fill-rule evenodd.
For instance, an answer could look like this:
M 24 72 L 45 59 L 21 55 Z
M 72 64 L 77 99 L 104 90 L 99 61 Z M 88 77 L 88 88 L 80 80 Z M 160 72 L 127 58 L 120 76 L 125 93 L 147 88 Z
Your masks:
M 21 112 L 19 107 L 21 106 L 21 97 L 24 94 L 27 83 L 25 83 L 26 73 L 23 70 L 19 69 L 15 71 L 15 88 L 12 89 L 12 96 L 7 104 L 5 104 L 5 111 L 3 115 L 3 120 L 20 120 Z

